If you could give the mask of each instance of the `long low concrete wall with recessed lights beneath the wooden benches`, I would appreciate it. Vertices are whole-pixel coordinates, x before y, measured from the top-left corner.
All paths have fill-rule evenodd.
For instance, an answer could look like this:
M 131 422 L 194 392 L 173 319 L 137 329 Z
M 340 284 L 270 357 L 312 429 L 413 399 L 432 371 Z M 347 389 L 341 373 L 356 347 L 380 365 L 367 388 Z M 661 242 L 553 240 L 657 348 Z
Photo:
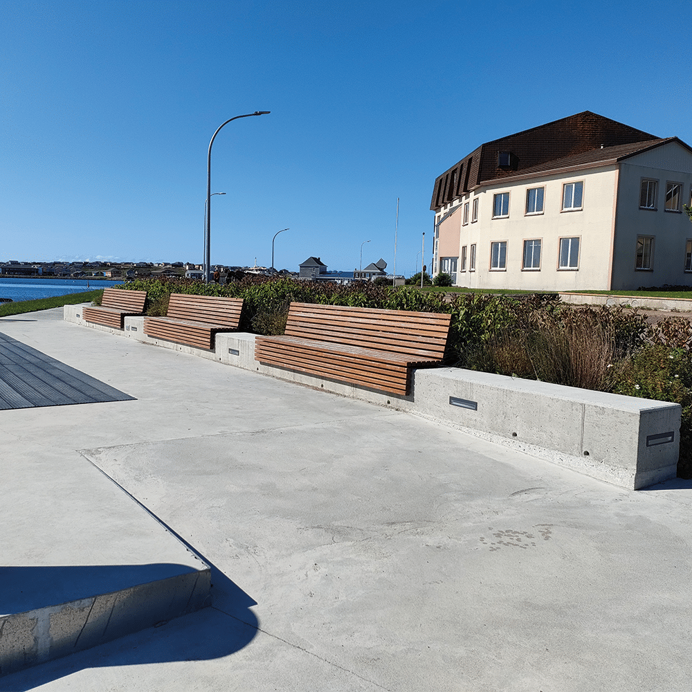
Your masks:
M 87 324 L 79 305 L 66 305 L 65 319 Z M 623 488 L 676 475 L 681 408 L 674 403 L 451 367 L 415 371 L 412 393 L 400 397 L 259 363 L 253 334 L 217 334 L 215 350 L 206 351 L 149 338 L 143 322 L 96 328 L 429 417 Z

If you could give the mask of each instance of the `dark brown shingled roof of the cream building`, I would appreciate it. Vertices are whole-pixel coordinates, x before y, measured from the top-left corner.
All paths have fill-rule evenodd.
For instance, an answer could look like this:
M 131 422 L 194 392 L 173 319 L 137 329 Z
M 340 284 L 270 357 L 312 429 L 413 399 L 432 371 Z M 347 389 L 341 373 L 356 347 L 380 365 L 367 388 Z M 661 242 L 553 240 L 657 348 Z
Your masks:
M 439 210 L 481 182 L 516 177 L 549 162 L 623 145 L 646 142 L 650 146 L 662 141 L 591 111 L 576 113 L 481 145 L 437 177 L 430 209 Z M 510 165 L 498 165 L 500 152 L 511 153 Z

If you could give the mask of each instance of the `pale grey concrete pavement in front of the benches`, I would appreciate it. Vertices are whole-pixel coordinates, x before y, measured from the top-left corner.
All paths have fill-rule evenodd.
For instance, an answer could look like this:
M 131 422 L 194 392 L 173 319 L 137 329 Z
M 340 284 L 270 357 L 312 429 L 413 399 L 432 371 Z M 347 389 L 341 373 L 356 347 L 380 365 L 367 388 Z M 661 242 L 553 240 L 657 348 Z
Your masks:
M 171 536 L 136 498 L 214 597 L 0 691 L 689 689 L 692 482 L 625 491 L 62 309 L 0 332 L 135 399 L 0 412 L 3 467 L 53 473 L 23 513 L 0 504 L 2 554 L 146 562 Z

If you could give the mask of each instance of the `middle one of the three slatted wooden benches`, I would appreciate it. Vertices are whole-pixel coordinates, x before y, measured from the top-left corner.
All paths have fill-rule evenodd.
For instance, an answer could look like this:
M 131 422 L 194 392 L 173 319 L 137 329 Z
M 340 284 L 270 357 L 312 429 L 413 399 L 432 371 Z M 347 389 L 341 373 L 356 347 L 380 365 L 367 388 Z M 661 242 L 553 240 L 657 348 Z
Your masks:
M 147 336 L 197 348 L 213 349 L 217 331 L 236 331 L 242 298 L 171 293 L 165 317 L 145 317 Z

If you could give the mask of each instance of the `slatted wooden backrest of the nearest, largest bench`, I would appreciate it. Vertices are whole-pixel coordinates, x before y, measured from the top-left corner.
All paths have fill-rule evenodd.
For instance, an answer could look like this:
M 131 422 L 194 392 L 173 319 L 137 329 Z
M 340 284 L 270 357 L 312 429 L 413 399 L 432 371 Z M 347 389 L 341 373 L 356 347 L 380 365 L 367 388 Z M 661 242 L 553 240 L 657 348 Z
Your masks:
M 441 359 L 451 316 L 292 302 L 286 336 Z

